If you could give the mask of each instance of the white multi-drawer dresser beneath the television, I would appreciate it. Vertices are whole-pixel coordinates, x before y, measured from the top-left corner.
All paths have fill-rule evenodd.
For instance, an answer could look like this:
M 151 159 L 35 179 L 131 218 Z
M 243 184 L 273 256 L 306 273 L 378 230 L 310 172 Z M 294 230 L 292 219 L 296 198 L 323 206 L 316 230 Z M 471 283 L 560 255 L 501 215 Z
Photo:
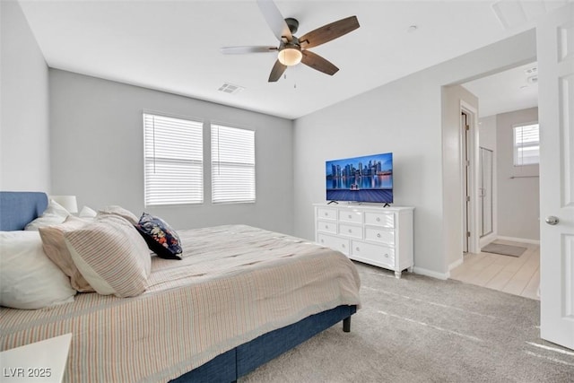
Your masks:
M 413 270 L 413 207 L 315 204 L 315 241 L 347 257 L 395 271 Z

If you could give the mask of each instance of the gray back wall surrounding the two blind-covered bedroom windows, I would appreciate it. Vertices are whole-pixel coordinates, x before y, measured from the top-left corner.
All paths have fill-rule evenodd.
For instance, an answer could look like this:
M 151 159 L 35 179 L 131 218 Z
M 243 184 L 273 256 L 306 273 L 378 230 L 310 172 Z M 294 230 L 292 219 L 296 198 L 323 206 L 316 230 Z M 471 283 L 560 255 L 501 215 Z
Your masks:
M 50 69 L 52 189 L 78 205 L 122 205 L 142 213 L 143 110 L 199 118 L 256 131 L 257 203 L 211 204 L 209 149 L 204 148 L 204 204 L 147 208 L 175 228 L 246 223 L 293 231 L 292 122 L 212 102 Z

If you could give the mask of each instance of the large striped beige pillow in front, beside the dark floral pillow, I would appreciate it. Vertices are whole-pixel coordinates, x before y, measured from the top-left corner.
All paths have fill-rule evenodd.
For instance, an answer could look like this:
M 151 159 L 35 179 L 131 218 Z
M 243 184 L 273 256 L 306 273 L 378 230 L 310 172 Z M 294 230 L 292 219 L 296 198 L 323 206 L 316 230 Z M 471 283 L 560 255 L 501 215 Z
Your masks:
M 125 218 L 105 214 L 74 231 L 65 231 L 74 264 L 102 295 L 133 297 L 145 291 L 152 268 L 150 250 Z

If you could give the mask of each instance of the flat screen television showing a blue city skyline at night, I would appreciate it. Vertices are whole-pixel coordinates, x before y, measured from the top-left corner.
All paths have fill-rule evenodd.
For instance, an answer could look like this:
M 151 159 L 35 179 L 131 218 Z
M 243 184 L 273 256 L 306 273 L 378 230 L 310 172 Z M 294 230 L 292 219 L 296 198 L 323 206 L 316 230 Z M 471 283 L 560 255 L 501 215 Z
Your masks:
M 326 200 L 393 203 L 393 153 L 326 161 Z

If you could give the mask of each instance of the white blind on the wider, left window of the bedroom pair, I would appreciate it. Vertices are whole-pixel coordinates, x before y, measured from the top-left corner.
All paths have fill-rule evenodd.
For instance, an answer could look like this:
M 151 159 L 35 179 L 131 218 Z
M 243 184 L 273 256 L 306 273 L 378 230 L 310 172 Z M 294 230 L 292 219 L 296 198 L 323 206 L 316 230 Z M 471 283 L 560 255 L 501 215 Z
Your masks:
M 145 205 L 204 202 L 203 123 L 143 114 Z

